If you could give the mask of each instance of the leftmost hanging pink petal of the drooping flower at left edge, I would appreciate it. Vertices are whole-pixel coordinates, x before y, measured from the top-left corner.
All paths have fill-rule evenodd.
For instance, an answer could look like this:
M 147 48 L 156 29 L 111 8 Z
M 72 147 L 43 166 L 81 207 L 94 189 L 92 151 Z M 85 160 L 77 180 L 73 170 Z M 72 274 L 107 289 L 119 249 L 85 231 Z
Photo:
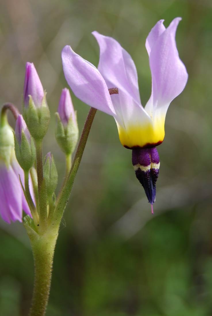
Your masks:
M 22 221 L 21 185 L 11 166 L 0 164 L 0 214 L 5 222 Z

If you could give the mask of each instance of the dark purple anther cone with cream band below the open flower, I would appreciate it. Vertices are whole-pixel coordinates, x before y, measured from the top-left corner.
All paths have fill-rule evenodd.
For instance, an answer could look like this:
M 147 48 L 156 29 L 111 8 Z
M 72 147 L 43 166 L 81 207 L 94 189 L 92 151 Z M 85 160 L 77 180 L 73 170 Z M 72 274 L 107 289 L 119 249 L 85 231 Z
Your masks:
M 150 204 L 155 202 L 160 160 L 156 147 L 132 149 L 132 164 Z

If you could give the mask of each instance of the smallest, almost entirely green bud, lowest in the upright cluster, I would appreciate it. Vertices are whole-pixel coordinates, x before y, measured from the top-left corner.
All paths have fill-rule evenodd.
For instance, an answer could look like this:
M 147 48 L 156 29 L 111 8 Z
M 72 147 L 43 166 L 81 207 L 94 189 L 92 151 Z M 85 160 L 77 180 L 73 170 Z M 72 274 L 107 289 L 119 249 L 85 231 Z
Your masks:
M 53 155 L 50 152 L 45 156 L 44 179 L 46 181 L 47 196 L 52 196 L 56 190 L 58 175 Z

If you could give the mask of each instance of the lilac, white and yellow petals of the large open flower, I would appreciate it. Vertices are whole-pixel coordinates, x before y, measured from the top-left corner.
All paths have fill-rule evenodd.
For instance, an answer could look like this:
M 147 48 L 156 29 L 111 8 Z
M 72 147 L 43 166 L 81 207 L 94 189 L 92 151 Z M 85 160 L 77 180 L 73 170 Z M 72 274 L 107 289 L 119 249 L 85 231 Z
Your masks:
M 158 21 L 146 39 L 152 92 L 145 107 L 140 101 L 135 64 L 115 39 L 93 32 L 100 47 L 98 69 L 70 46 L 62 50 L 64 75 L 74 94 L 115 118 L 120 141 L 126 148 L 154 148 L 164 139 L 168 106 L 183 91 L 188 78 L 175 42 L 180 20 L 175 18 L 167 28 L 164 20 Z M 110 96 L 108 89 L 114 87 L 119 93 Z M 149 200 L 154 203 L 154 192 Z

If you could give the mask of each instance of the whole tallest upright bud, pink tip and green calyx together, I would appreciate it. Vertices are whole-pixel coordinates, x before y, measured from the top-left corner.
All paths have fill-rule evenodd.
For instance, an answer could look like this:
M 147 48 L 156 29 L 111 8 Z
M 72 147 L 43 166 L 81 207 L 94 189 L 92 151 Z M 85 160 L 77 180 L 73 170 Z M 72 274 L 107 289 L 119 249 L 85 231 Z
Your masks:
M 46 93 L 32 63 L 26 63 L 23 99 L 26 125 L 32 137 L 40 141 L 48 130 L 50 112 L 46 103 Z

